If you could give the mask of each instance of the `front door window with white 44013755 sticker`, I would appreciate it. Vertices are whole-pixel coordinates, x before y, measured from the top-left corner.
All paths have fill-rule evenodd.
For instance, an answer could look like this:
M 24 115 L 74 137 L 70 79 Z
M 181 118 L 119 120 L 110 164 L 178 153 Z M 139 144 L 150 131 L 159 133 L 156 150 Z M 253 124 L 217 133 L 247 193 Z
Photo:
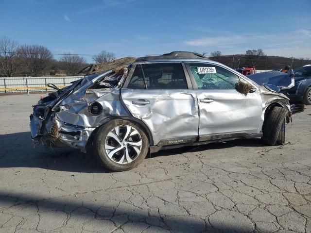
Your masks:
M 222 67 L 202 63 L 190 63 L 189 66 L 198 89 L 232 90 L 240 81 L 238 75 Z

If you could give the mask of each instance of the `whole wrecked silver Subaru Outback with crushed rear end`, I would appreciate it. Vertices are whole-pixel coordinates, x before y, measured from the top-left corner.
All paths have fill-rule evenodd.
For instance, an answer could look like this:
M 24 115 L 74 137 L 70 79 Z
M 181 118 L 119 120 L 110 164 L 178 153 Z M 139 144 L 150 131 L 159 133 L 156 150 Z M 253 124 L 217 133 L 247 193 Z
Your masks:
M 34 106 L 30 127 L 35 146 L 90 151 L 122 171 L 161 149 L 239 138 L 282 144 L 291 114 L 271 85 L 197 53 L 171 52 L 57 89 Z

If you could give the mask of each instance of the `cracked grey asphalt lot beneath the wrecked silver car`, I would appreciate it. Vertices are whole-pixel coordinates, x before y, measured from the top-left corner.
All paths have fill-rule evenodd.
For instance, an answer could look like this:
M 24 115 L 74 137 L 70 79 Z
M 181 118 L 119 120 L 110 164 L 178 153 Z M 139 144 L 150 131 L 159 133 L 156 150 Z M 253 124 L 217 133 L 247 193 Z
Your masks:
M 39 97 L 0 96 L 1 233 L 311 232 L 310 106 L 283 146 L 159 151 L 112 173 L 78 150 L 32 148 Z

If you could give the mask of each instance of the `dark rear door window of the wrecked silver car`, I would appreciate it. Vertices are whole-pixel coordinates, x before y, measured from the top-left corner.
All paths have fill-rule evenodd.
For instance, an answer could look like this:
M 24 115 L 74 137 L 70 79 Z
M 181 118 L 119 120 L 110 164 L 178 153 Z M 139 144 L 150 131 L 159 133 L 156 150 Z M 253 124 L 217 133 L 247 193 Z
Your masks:
M 147 89 L 188 89 L 181 63 L 143 64 Z

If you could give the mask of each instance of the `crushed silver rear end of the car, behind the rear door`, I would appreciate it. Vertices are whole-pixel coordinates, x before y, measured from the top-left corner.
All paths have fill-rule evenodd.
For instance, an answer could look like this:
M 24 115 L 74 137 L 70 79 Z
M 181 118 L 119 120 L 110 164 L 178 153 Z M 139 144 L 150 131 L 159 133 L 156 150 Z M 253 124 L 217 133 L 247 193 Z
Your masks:
M 128 116 L 118 88 L 127 72 L 127 67 L 121 67 L 86 76 L 56 98 L 49 94 L 39 100 L 30 116 L 33 145 L 69 146 L 86 152 L 91 134 L 109 116 Z

